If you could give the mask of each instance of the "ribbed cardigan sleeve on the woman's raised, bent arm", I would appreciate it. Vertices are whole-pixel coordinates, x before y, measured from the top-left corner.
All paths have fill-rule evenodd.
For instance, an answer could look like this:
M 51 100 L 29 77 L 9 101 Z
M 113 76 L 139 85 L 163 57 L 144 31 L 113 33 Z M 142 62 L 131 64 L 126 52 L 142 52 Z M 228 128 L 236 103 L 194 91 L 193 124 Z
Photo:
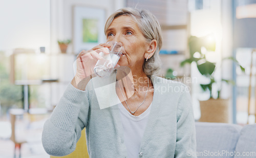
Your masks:
M 81 130 L 87 126 L 89 91 L 69 84 L 42 131 L 42 145 L 54 156 L 68 155 L 76 148 Z

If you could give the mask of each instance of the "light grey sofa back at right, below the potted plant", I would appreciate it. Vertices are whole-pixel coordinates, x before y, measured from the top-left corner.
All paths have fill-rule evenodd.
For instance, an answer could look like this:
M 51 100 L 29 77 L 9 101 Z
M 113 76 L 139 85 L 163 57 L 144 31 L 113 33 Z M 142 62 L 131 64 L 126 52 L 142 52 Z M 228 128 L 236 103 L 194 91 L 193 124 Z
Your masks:
M 197 154 L 200 157 L 256 157 L 256 124 L 196 122 Z

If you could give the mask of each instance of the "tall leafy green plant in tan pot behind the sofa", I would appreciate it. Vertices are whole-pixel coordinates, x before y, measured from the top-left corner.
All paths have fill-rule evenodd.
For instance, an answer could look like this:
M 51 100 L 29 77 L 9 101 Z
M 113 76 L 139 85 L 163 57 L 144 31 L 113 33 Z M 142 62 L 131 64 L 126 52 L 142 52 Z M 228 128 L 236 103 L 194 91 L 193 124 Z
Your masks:
M 216 42 L 215 40 L 209 40 L 210 37 L 211 35 L 205 37 L 189 37 L 188 44 L 190 57 L 182 61 L 181 66 L 184 66 L 186 63 L 191 64 L 192 62 L 195 62 L 200 74 L 208 79 L 208 83 L 200 84 L 203 91 L 209 93 L 209 99 L 206 101 L 200 101 L 201 118 L 199 121 L 228 123 L 229 100 L 220 98 L 221 86 L 217 88 L 217 92 L 212 92 L 214 89 L 212 87 L 216 84 L 222 85 L 222 83 L 219 82 L 226 82 L 228 84 L 234 84 L 234 82 L 223 78 L 215 78 L 214 74 L 216 72 L 216 65 L 219 63 L 208 61 L 205 53 L 208 51 L 215 51 L 216 49 Z M 238 61 L 233 57 L 224 58 L 222 61 L 223 60 L 232 60 L 239 65 Z M 239 66 L 244 72 L 244 67 L 241 65 Z M 215 94 L 217 94 L 217 96 Z

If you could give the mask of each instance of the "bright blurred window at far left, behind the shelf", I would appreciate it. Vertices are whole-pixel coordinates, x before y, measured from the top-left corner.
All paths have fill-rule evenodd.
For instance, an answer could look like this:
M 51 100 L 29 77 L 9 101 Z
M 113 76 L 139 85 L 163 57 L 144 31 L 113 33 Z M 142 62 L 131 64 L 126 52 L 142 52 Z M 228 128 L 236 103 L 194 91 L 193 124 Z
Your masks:
M 0 105 L 3 115 L 10 107 L 23 107 L 22 86 L 9 80 L 10 55 L 14 49 L 39 52 L 39 47 L 45 47 L 50 50 L 50 0 L 1 1 L 0 21 Z M 18 67 L 23 65 L 19 64 Z M 47 85 L 30 86 L 32 106 L 46 106 L 45 102 L 49 97 L 45 86 Z

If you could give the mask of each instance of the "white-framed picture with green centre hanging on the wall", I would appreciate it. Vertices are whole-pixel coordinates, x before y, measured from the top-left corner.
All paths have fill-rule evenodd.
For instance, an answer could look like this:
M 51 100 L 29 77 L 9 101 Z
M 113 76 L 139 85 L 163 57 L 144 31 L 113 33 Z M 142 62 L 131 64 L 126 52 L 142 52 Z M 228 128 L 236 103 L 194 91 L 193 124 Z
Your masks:
M 73 52 L 90 50 L 105 42 L 105 9 L 73 7 Z

